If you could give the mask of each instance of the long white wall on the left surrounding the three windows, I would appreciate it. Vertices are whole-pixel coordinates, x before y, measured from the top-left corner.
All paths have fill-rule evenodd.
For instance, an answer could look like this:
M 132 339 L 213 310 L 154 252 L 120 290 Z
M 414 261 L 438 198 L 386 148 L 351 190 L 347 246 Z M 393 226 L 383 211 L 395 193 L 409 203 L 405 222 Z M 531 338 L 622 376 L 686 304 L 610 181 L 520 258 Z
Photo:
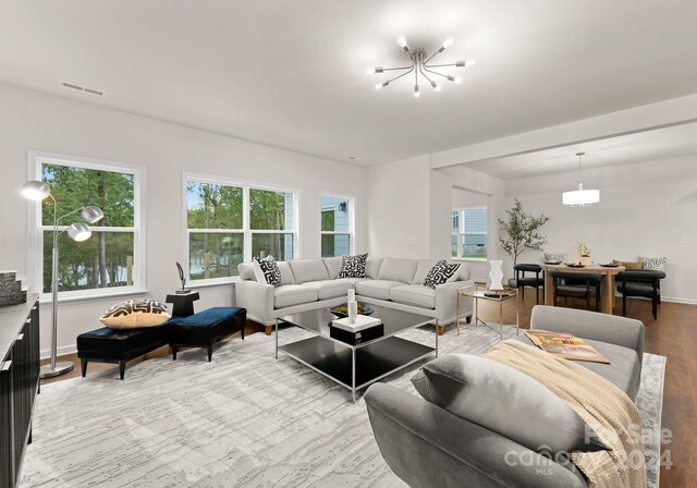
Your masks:
M 0 85 L 0 269 L 26 268 L 26 151 L 38 149 L 142 164 L 147 173 L 147 288 L 164 300 L 178 284 L 181 252 L 182 171 L 193 171 L 298 188 L 299 252 L 320 255 L 319 198 L 322 192 L 356 196 L 356 251 L 366 245 L 367 170 L 231 137 L 186 129 L 117 110 Z M 35 205 L 29 203 L 29 205 Z M 231 285 L 201 289 L 198 309 L 232 305 Z M 117 298 L 64 303 L 59 315 L 59 353 L 75 337 L 99 326 Z M 48 347 L 49 307 L 41 314 L 41 349 Z

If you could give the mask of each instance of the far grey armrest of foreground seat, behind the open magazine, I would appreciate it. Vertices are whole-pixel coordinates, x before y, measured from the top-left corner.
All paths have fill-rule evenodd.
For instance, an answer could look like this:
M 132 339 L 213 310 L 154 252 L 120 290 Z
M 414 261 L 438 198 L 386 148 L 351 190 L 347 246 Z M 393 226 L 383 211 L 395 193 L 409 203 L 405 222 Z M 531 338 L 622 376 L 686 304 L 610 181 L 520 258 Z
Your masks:
M 644 324 L 632 318 L 597 312 L 536 305 L 530 329 L 568 332 L 592 341 L 609 342 L 636 351 L 644 358 Z

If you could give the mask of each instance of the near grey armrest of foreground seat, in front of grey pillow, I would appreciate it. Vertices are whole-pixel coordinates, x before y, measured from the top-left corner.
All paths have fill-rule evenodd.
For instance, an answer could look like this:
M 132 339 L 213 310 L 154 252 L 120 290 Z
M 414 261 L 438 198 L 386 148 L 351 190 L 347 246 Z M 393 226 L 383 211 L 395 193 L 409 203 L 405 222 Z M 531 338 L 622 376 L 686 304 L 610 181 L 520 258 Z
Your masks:
M 365 401 L 382 457 L 409 486 L 586 487 L 564 466 L 390 385 L 372 385 Z

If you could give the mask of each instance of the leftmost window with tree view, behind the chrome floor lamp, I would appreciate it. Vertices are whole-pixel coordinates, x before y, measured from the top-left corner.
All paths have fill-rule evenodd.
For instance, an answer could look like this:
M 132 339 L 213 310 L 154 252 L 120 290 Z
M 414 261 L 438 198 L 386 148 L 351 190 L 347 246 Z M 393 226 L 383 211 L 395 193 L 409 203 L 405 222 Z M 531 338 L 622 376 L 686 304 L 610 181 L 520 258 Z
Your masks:
M 59 236 L 58 290 L 63 297 L 91 296 L 140 291 L 145 286 L 144 242 L 140 235 L 140 171 L 103 161 L 29 154 L 34 174 L 45 181 L 56 198 L 57 213 L 65 213 L 86 205 L 103 210 L 99 222 L 89 224 L 91 236 L 75 242 L 66 233 Z M 40 207 L 40 208 L 39 208 Z M 35 282 L 41 292 L 51 292 L 51 249 L 53 239 L 53 203 L 46 199 L 30 211 L 30 237 L 36 247 L 32 264 Z M 59 231 L 82 221 L 80 212 L 60 219 Z

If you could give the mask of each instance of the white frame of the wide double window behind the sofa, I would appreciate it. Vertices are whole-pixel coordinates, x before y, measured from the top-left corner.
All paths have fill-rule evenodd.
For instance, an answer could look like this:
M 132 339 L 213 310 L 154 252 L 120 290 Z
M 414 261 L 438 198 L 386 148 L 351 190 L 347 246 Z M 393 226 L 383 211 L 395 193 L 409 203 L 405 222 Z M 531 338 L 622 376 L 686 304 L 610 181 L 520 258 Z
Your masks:
M 188 191 L 187 183 L 194 181 L 197 183 L 208 183 L 225 186 L 239 186 L 242 188 L 242 229 L 188 229 Z M 252 229 L 249 222 L 249 190 L 262 190 L 268 192 L 284 192 L 293 195 L 293 229 L 290 231 Z M 189 234 L 193 233 L 221 233 L 221 234 L 242 234 L 243 235 L 243 263 L 252 263 L 252 234 L 292 234 L 293 235 L 293 257 L 298 259 L 299 254 L 299 207 L 301 192 L 298 188 L 277 186 L 268 183 L 259 183 L 247 180 L 231 179 L 211 174 L 194 173 L 189 171 L 182 172 L 182 256 L 184 276 L 186 277 L 186 285 L 191 288 L 216 286 L 219 284 L 234 283 L 240 281 L 240 276 L 209 278 L 192 280 L 189 273 Z

